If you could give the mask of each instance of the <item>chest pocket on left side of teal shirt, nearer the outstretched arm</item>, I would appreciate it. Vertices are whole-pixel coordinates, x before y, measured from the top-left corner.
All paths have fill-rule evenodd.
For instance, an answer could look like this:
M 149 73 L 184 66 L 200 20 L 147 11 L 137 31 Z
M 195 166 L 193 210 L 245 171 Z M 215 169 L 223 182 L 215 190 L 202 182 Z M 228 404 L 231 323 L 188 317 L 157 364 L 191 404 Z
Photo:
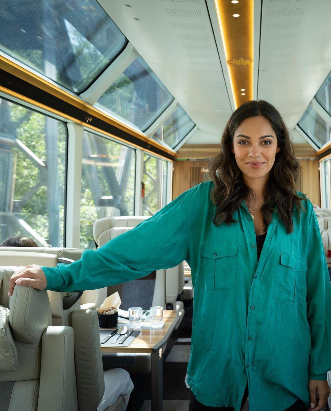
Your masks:
M 237 281 L 238 245 L 204 242 L 200 245 L 202 288 L 210 293 L 232 293 Z

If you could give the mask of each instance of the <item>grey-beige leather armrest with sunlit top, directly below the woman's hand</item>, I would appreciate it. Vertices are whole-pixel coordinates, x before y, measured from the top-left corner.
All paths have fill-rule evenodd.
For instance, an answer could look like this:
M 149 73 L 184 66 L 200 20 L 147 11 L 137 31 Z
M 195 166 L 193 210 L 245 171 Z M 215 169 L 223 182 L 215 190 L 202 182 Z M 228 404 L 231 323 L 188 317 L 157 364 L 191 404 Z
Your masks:
M 77 409 L 74 331 L 49 326 L 42 335 L 42 359 L 38 411 Z

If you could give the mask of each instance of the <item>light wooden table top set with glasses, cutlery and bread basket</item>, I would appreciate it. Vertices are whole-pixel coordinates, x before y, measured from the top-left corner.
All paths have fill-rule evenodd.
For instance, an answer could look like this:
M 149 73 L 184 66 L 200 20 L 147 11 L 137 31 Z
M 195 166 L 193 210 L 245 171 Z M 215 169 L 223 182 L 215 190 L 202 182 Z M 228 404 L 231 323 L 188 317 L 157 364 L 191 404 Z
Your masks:
M 167 340 L 170 337 L 172 330 L 179 321 L 176 316 L 176 311 L 165 310 L 163 311 L 163 322 L 165 326 L 161 329 L 140 329 L 140 333 L 128 347 L 123 346 L 105 346 L 101 344 L 102 353 L 151 353 L 152 348 L 162 339 Z M 127 321 L 119 321 L 119 324 L 126 324 Z M 149 321 L 144 321 L 144 324 L 148 324 Z M 112 328 L 99 328 L 99 330 L 114 330 L 117 327 Z

